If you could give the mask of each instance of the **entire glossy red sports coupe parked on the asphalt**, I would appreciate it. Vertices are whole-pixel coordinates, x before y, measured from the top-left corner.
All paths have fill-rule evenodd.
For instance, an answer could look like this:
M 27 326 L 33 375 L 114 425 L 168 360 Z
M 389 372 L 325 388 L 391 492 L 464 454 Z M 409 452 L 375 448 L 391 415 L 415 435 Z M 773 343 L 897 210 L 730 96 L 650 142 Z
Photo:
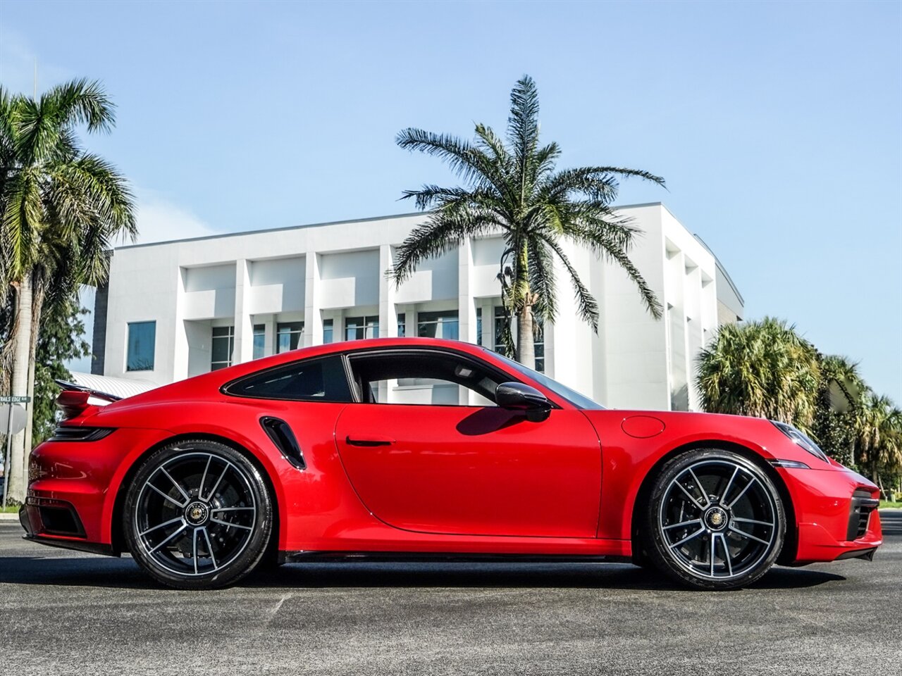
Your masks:
M 606 410 L 468 343 L 334 343 L 89 394 L 60 394 L 32 452 L 25 537 L 129 552 L 181 589 L 367 557 L 632 561 L 732 589 L 881 544 L 877 487 L 789 425 Z

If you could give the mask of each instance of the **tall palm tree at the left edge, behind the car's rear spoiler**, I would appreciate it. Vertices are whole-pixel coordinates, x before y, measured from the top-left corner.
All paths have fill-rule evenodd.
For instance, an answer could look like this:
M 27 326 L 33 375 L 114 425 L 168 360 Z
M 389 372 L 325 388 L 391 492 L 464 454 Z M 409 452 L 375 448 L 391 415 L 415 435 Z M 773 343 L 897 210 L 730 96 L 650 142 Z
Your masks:
M 32 395 L 37 328 L 46 303 L 106 279 L 109 244 L 136 233 L 133 197 L 76 135 L 109 131 L 114 106 L 96 82 L 73 80 L 40 97 L 0 87 L 0 284 L 13 312 L 3 345 L 5 391 Z M 10 494 L 24 495 L 29 428 L 14 438 Z

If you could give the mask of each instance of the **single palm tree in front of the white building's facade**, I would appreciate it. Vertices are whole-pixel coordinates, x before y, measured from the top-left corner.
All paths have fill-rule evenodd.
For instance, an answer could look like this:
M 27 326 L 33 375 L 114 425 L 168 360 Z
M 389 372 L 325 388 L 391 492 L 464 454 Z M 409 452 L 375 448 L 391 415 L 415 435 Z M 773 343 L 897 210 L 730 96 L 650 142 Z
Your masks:
M 413 199 L 418 209 L 430 213 L 402 243 L 391 271 L 400 284 L 421 261 L 456 248 L 467 237 L 502 233 L 502 304 L 509 318 L 517 317 L 512 356 L 529 367 L 535 364 L 536 316 L 553 322 L 557 313 L 556 259 L 570 278 L 580 317 L 598 330 L 598 304 L 567 258 L 562 240 L 620 265 L 639 288 L 651 315 L 661 315 L 658 298 L 628 256 L 638 231 L 611 205 L 618 177 L 639 177 L 660 186 L 664 179 L 617 167 L 558 171 L 557 143 L 539 146 L 538 135 L 538 91 L 529 76 L 511 92 L 507 143 L 484 124 L 476 124 L 474 142 L 420 129 L 400 132 L 401 148 L 445 160 L 466 187 L 424 185 L 404 191 L 404 199 Z

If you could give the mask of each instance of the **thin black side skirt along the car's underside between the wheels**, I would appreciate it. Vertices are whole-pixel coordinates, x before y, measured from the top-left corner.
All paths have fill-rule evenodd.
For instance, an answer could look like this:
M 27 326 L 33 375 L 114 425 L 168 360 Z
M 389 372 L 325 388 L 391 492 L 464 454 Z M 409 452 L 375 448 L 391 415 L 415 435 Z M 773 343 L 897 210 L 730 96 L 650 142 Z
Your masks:
M 602 554 L 482 554 L 455 552 L 280 552 L 280 563 L 311 562 L 490 562 L 490 563 L 631 563 L 630 556 Z

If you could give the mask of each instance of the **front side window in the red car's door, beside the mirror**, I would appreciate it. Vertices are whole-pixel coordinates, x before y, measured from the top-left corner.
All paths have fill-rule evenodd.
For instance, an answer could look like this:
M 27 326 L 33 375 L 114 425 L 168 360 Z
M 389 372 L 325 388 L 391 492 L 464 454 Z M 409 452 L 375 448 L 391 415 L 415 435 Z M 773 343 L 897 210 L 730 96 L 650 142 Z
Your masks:
M 352 355 L 354 387 L 370 404 L 494 406 L 495 388 L 505 379 L 485 364 L 439 351 L 399 350 Z M 467 397 L 466 391 L 475 393 Z

